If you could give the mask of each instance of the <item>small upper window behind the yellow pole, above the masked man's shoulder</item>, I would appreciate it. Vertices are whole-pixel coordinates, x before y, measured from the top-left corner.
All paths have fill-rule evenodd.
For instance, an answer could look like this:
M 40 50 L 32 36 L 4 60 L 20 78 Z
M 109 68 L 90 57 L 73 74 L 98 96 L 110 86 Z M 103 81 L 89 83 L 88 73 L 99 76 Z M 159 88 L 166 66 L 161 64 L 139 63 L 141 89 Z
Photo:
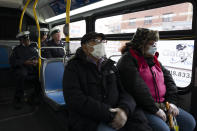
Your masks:
M 61 38 L 65 38 L 63 33 L 63 27 L 65 24 L 59 25 L 61 30 Z M 86 33 L 85 20 L 70 23 L 70 38 L 82 37 Z

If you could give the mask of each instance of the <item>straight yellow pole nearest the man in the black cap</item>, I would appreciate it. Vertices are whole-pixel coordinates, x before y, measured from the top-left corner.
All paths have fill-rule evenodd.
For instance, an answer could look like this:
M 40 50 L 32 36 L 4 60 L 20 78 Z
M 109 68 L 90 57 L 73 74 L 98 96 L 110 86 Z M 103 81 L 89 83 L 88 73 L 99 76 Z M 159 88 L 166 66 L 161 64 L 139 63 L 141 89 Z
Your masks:
M 70 6 L 71 6 L 71 0 L 64 0 L 65 4 L 66 4 L 66 23 L 65 23 L 65 27 L 64 27 L 64 34 L 66 36 L 65 41 L 67 44 L 67 49 L 66 49 L 66 53 L 67 55 L 69 55 L 69 42 L 70 42 L 70 34 L 69 34 L 69 24 L 70 24 Z

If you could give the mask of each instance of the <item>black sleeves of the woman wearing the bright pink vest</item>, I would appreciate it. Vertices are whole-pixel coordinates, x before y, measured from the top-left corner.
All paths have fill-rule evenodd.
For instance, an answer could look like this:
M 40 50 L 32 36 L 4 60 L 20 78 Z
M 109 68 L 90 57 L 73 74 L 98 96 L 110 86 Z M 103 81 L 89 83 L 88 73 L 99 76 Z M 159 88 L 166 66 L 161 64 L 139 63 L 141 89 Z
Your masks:
M 176 84 L 170 72 L 164 68 L 164 66 L 161 65 L 161 67 L 166 85 L 165 101 L 176 104 Z M 155 101 L 151 96 L 148 86 L 140 77 L 137 60 L 130 54 L 129 51 L 122 55 L 118 61 L 117 68 L 119 70 L 121 82 L 124 88 L 134 97 L 137 105 L 149 113 L 155 114 L 158 111 L 158 107 L 155 105 Z

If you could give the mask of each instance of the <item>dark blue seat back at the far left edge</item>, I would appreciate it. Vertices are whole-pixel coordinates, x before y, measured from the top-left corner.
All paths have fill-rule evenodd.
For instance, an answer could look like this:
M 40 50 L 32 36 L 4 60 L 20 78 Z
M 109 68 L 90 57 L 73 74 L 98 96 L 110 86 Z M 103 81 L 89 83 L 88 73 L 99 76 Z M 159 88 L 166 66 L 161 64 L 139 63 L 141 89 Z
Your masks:
M 9 47 L 0 45 L 0 69 L 10 68 L 9 54 L 10 54 Z

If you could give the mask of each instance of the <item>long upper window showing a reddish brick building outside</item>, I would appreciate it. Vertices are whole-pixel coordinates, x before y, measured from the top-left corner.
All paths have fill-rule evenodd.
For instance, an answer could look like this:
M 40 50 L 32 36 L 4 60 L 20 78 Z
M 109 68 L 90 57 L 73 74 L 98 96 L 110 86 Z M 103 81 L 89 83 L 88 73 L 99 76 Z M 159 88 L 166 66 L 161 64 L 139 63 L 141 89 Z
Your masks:
M 192 4 L 181 3 L 97 19 L 95 27 L 96 32 L 104 34 L 134 33 L 137 27 L 159 31 L 191 30 L 192 16 Z

